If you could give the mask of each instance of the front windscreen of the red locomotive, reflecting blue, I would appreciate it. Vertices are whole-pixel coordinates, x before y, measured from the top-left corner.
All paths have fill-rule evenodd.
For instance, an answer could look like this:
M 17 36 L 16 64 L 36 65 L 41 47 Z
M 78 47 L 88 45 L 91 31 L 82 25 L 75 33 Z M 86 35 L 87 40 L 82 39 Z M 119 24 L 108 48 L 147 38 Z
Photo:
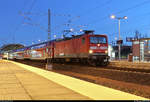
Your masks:
M 106 41 L 106 37 L 90 37 L 90 43 L 92 44 L 106 44 L 107 41 Z

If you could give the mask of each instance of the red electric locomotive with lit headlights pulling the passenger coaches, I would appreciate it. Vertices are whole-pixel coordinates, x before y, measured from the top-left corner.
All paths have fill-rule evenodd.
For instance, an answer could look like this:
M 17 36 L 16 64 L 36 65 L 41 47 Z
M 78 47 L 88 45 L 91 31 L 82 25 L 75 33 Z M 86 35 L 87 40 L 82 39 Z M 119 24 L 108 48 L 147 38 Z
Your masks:
M 109 62 L 107 36 L 95 35 L 93 31 L 54 41 L 53 46 L 53 61 L 78 61 L 94 66 Z

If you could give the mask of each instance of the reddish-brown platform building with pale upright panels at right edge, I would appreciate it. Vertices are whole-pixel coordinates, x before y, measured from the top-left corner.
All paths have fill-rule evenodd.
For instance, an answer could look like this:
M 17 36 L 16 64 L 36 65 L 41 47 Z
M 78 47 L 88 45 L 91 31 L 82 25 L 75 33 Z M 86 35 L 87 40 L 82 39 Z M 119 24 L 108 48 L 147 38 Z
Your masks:
M 150 62 L 150 38 L 132 41 L 133 61 Z

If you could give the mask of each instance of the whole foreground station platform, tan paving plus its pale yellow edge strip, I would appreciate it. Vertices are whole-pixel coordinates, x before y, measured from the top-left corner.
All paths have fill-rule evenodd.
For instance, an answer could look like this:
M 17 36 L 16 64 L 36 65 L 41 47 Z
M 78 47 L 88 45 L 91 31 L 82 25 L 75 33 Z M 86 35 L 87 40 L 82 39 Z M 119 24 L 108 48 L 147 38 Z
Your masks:
M 52 71 L 0 60 L 0 100 L 150 100 Z

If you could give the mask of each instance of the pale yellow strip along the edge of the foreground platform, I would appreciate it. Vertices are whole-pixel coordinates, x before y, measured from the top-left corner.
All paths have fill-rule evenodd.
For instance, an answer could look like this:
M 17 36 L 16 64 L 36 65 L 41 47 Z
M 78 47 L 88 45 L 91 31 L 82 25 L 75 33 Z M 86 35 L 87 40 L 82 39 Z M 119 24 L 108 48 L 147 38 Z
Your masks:
M 12 62 L 12 61 L 10 61 Z M 58 73 L 42 70 L 36 67 L 12 62 L 27 70 L 35 72 L 49 80 L 52 80 L 60 85 L 65 86 L 75 92 L 84 96 L 88 96 L 94 100 L 150 100 L 133 94 L 125 93 L 119 90 L 114 90 L 69 76 L 61 75 Z

